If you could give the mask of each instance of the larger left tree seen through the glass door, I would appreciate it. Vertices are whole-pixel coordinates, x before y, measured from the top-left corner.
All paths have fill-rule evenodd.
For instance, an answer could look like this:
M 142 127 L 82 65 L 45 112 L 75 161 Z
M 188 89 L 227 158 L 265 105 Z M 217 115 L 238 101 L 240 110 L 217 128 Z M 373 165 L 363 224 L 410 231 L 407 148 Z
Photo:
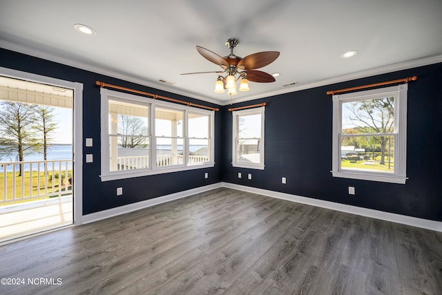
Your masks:
M 35 122 L 35 105 L 20 102 L 0 103 L 0 131 L 2 133 L 3 152 L 18 153 L 19 161 L 23 162 L 24 155 L 38 149 L 39 143 L 32 132 Z M 20 164 L 19 176 L 23 174 L 23 164 Z

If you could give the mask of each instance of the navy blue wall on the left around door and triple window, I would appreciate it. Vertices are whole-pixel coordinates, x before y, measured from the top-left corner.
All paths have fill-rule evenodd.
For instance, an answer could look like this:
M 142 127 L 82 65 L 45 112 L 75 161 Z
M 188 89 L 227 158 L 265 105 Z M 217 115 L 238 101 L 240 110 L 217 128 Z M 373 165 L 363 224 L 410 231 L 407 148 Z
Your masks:
M 47 61 L 22 55 L 0 48 L 0 66 L 21 70 L 28 73 L 35 73 L 47 77 L 64 79 L 70 82 L 83 84 L 83 140 L 86 137 L 93 138 L 93 147 L 83 147 L 83 154 L 92 153 L 94 162 L 83 164 L 83 213 L 94 213 L 104 209 L 119 207 L 124 204 L 131 204 L 164 196 L 178 191 L 185 191 L 195 187 L 218 183 L 221 181 L 220 168 L 218 163 L 222 162 L 221 149 L 221 128 L 219 112 L 215 112 L 215 166 L 210 169 L 196 169 L 176 173 L 165 173 L 160 175 L 146 176 L 142 178 L 131 178 L 102 182 L 100 175 L 100 88 L 95 81 L 108 84 L 116 84 L 128 88 L 164 95 L 175 99 L 182 99 L 204 106 L 215 106 L 208 102 L 201 102 L 189 97 L 182 97 L 173 93 L 166 93 L 156 89 L 140 86 L 137 84 L 91 73 L 79 68 L 73 68 L 55 62 Z M 204 178 L 204 173 L 209 173 L 209 178 Z M 116 188 L 123 187 L 124 197 L 116 196 Z

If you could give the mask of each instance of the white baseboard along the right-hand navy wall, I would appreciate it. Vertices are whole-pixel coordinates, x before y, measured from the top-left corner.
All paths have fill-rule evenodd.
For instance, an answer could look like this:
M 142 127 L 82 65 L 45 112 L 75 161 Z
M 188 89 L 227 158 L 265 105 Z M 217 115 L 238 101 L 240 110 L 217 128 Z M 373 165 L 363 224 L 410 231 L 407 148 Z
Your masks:
M 222 182 L 222 187 L 229 189 L 237 189 L 239 191 L 247 191 L 250 193 L 257 193 L 262 196 L 268 196 L 271 198 L 278 198 L 282 200 L 289 200 L 291 202 L 298 202 L 302 204 L 309 204 L 316 207 L 322 207 L 326 209 L 332 209 L 336 211 L 342 211 L 346 213 L 352 213 L 360 216 L 366 216 L 370 218 L 376 218 L 386 220 L 390 222 L 401 223 L 403 225 L 411 225 L 413 227 L 421 227 L 423 229 L 431 229 L 432 231 L 442 231 L 442 222 L 427 220 L 423 218 L 416 218 L 412 216 L 405 216 L 396 213 L 388 213 L 384 211 L 378 211 L 374 209 L 367 209 L 362 207 L 356 207 L 347 204 L 340 204 L 336 202 L 329 202 L 325 200 L 318 200 L 314 198 L 306 198 L 289 193 L 280 193 L 278 191 L 269 191 L 267 189 L 257 189 L 255 187 L 246 187 L 244 185 L 232 184 L 228 182 Z

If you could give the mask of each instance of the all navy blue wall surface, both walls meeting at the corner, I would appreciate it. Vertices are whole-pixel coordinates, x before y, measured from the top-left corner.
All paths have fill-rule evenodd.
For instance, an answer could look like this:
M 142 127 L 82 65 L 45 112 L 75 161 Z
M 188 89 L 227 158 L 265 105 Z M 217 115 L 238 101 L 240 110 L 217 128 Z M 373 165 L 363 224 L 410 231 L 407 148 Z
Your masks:
M 0 49 L 0 66 L 28 73 L 65 79 L 84 84 L 83 139 L 92 137 L 94 163 L 84 163 L 84 214 L 110 209 L 169 193 L 193 189 L 220 181 L 269 189 L 352 204 L 407 216 L 442 220 L 442 64 L 402 70 L 340 84 L 312 88 L 235 104 L 243 106 L 267 102 L 265 111 L 265 170 L 238 169 L 231 166 L 231 113 L 223 106 L 215 112 L 215 166 L 142 178 L 101 182 L 100 95 L 95 81 L 117 84 L 140 91 L 183 99 L 206 106 L 207 102 L 165 93 L 86 70 Z M 364 180 L 333 178 L 332 173 L 332 97 L 326 92 L 340 88 L 401 79 L 417 75 L 408 89 L 407 180 L 406 184 L 388 184 Z M 209 172 L 209 179 L 204 173 Z M 245 177 L 238 179 L 238 172 Z M 252 180 L 247 179 L 252 173 Z M 281 177 L 287 184 L 281 184 Z M 347 187 L 356 187 L 349 196 Z M 116 187 L 124 187 L 124 198 L 115 196 Z

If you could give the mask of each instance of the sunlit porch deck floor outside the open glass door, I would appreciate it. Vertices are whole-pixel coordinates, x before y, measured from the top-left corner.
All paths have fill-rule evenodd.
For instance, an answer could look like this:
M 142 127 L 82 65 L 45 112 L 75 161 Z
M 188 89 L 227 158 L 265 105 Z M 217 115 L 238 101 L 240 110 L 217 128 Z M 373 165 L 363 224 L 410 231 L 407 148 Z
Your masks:
M 0 242 L 72 224 L 72 196 L 0 206 Z

